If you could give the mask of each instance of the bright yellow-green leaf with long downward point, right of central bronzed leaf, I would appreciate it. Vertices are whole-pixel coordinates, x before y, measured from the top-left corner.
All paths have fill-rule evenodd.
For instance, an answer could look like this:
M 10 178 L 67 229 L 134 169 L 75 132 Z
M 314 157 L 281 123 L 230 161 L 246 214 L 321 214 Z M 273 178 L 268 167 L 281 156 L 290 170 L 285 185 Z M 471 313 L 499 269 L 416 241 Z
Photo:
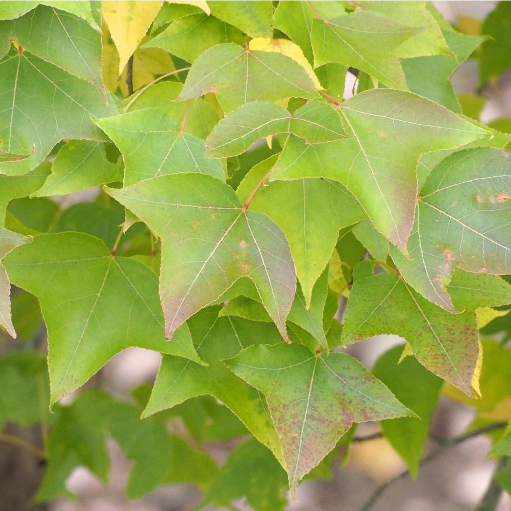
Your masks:
M 362 207 L 341 184 L 327 179 L 274 181 L 255 194 L 250 207 L 284 231 L 309 307 L 312 288 L 330 260 L 339 230 L 365 218 Z

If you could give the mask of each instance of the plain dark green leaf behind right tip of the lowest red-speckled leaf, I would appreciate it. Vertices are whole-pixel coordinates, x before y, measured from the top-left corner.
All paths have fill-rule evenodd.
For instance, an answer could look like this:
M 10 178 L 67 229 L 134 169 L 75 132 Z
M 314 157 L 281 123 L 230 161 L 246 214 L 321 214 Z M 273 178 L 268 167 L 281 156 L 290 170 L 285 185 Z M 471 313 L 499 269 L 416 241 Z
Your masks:
M 415 478 L 443 381 L 424 369 L 414 357 L 400 361 L 402 351 L 403 345 L 399 345 L 385 352 L 376 361 L 373 374 L 417 415 L 381 423 L 385 438 L 405 460 Z

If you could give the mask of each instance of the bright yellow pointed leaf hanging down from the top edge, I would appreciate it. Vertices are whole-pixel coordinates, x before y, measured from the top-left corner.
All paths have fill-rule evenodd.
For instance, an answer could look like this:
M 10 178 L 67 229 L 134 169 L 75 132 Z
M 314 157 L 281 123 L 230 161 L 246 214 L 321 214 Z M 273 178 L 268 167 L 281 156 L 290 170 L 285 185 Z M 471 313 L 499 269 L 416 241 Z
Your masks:
M 101 14 L 119 53 L 119 72 L 146 35 L 163 2 L 102 2 Z

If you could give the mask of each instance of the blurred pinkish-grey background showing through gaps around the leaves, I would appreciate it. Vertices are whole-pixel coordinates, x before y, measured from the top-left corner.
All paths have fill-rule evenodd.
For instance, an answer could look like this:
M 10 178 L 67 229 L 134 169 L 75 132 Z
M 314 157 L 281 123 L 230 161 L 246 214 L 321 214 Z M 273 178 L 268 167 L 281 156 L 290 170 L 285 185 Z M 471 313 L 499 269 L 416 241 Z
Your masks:
M 462 32 L 480 33 L 481 21 L 493 11 L 498 2 L 433 2 L 444 17 Z M 511 39 L 511 25 L 509 38 Z M 509 45 L 509 44 L 508 44 Z M 511 55 L 509 55 L 511 59 Z M 511 64 L 510 64 L 511 67 Z M 346 97 L 351 95 L 356 78 L 347 75 Z M 452 76 L 452 84 L 458 95 L 479 105 L 479 120 L 490 123 L 497 119 L 511 118 L 511 72 L 500 75 L 484 87 L 480 87 L 478 61 L 469 59 Z M 463 96 L 462 96 L 463 97 Z M 95 191 L 90 191 L 90 197 Z M 61 205 L 68 206 L 73 198 L 65 198 Z M 83 194 L 80 200 L 84 200 Z M 370 368 L 377 357 L 390 346 L 402 342 L 392 336 L 366 339 L 350 348 L 350 353 Z M 114 357 L 101 371 L 101 387 L 114 396 L 125 397 L 141 383 L 152 383 L 159 366 L 157 353 L 132 348 Z M 72 399 L 68 398 L 68 399 Z M 461 404 L 442 398 L 432 422 L 432 433 L 447 438 L 462 433 L 473 420 L 473 412 Z M 172 427 L 179 428 L 178 424 Z M 374 424 L 361 425 L 357 436 L 370 435 L 378 431 Z M 25 433 L 29 434 L 29 433 Z M 222 462 L 234 444 L 207 444 L 207 450 Z M 430 441 L 426 452 L 436 447 Z M 490 440 L 481 435 L 459 446 L 445 449 L 431 462 L 424 464 L 416 481 L 403 477 L 387 487 L 373 507 L 374 511 L 468 511 L 475 508 L 489 485 L 496 468 L 494 460 L 487 458 Z M 26 492 L 32 492 L 38 484 L 42 468 L 30 457 L 11 446 L 1 446 L 0 495 L 9 498 L 9 493 L 18 491 L 13 481 Z M 159 487 L 151 495 L 128 501 L 123 495 L 130 470 L 121 449 L 109 443 L 112 470 L 107 487 L 86 469 L 76 469 L 68 479 L 68 488 L 78 496 L 77 501 L 60 500 L 37 507 L 38 511 L 187 511 L 199 504 L 201 497 L 192 485 L 169 485 Z M 26 463 L 20 457 L 27 456 Z M 14 462 L 16 460 L 18 462 Z M 334 462 L 330 480 L 306 481 L 300 485 L 299 502 L 288 505 L 289 511 L 311 509 L 353 511 L 360 509 L 370 494 L 381 484 L 391 480 L 405 470 L 405 464 L 383 438 L 354 443 L 349 460 L 344 466 Z M 9 475 L 9 477 L 5 477 Z M 4 480 L 4 484 L 1 482 Z M 8 482 L 8 484 L 6 484 Z M 511 500 L 501 497 L 498 511 L 508 511 Z M 0 509 L 3 508 L 0 501 Z M 207 507 L 206 509 L 219 509 Z M 233 509 L 249 509 L 244 502 Z M 14 511 L 8 509 L 6 511 Z

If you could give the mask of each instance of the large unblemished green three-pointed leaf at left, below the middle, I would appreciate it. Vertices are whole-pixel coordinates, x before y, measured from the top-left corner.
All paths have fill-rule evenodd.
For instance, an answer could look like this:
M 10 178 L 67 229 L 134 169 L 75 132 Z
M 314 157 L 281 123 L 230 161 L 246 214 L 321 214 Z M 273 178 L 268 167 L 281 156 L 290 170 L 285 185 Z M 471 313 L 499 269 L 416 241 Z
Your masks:
M 48 328 L 51 403 L 129 346 L 201 362 L 186 326 L 166 342 L 157 276 L 138 261 L 112 257 L 101 240 L 41 235 L 4 262 L 12 282 L 39 298 Z

